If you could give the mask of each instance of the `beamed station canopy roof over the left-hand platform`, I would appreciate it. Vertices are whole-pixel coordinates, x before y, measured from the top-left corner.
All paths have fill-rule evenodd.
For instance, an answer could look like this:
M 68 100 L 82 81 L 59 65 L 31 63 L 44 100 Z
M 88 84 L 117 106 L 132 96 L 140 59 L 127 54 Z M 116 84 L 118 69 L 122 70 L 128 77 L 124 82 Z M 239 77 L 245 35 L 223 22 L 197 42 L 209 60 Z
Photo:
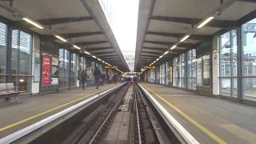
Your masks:
M 78 46 L 80 53 L 84 50 L 119 70 L 129 71 L 98 0 L 4 0 L 0 1 L 0 13 L 13 26 L 32 30 L 71 49 Z M 29 18 L 44 29 L 31 26 L 22 18 Z

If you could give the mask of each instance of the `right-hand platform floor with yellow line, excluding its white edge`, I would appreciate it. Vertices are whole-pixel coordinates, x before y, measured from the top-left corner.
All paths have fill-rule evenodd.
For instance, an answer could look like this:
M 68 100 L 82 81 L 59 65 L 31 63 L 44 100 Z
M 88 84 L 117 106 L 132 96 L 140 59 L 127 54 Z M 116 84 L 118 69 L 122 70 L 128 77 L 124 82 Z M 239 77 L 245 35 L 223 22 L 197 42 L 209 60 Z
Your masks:
M 200 143 L 256 143 L 256 108 L 142 83 Z

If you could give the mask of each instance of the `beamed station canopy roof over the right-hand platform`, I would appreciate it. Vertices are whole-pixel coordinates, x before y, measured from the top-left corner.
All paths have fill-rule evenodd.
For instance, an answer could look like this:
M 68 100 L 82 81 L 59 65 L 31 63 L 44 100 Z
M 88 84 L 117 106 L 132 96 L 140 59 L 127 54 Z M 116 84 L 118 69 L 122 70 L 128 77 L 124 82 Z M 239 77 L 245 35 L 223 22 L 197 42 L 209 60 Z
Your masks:
M 255 14 L 255 7 L 255 0 L 140 0 L 134 70 L 212 41 L 213 34 Z M 197 27 L 211 17 L 206 26 Z

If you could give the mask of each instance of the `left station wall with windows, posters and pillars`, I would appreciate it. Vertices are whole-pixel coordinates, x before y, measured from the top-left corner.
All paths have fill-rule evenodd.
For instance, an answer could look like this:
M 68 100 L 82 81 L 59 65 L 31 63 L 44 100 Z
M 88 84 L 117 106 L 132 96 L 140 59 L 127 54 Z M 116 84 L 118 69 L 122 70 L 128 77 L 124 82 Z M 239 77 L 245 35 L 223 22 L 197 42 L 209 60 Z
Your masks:
M 110 78 L 115 74 L 114 70 L 106 70 L 102 62 L 70 46 L 0 18 L 0 83 L 14 83 L 21 94 L 77 88 L 82 70 L 86 70 L 87 85 L 94 85 L 96 66 Z

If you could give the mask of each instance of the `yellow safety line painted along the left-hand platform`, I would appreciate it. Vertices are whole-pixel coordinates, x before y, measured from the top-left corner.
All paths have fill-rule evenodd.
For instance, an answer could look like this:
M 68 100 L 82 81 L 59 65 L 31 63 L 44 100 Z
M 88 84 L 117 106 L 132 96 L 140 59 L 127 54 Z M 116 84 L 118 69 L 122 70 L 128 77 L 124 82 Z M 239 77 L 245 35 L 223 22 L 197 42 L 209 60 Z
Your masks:
M 103 90 L 107 90 L 107 89 L 109 89 L 109 88 L 106 88 L 106 89 L 103 89 Z M 103 90 L 102 90 L 102 91 L 103 91 Z M 90 94 L 90 95 L 97 94 L 98 92 L 99 92 L 99 91 L 96 91 L 95 93 Z M 32 117 L 25 118 L 25 119 L 23 119 L 23 120 L 21 120 L 21 121 L 19 121 L 19 122 L 14 122 L 13 124 L 10 124 L 10 125 L 8 125 L 8 126 L 4 126 L 4 127 L 0 128 L 0 132 L 2 132 L 3 130 L 8 130 L 8 129 L 14 127 L 14 126 L 18 126 L 18 125 L 20 125 L 20 124 L 22 124 L 22 123 L 28 122 L 28 121 L 30 121 L 30 120 L 32 120 L 32 119 L 34 119 L 34 118 L 38 118 L 38 117 L 40 117 L 40 116 L 42 116 L 42 115 L 44 115 L 44 114 L 48 114 L 48 113 L 50 113 L 50 112 L 52 112 L 52 111 L 54 111 L 54 110 L 58 110 L 58 109 L 60 109 L 60 108 L 62 108 L 62 107 L 64 107 L 64 106 L 70 105 L 71 103 L 78 102 L 79 100 L 81 100 L 81 99 L 83 99 L 83 98 L 86 98 L 86 97 L 89 97 L 90 95 L 86 95 L 85 97 L 75 99 L 74 101 L 71 101 L 71 102 L 67 102 L 67 103 L 65 103 L 65 104 L 63 104 L 63 105 L 61 105 L 61 106 L 57 106 L 57 107 L 54 107 L 53 109 L 46 110 L 46 111 L 44 111 L 44 112 L 42 112 L 42 113 L 39 113 L 39 114 L 36 114 L 36 115 L 34 115 L 34 116 L 32 116 Z

